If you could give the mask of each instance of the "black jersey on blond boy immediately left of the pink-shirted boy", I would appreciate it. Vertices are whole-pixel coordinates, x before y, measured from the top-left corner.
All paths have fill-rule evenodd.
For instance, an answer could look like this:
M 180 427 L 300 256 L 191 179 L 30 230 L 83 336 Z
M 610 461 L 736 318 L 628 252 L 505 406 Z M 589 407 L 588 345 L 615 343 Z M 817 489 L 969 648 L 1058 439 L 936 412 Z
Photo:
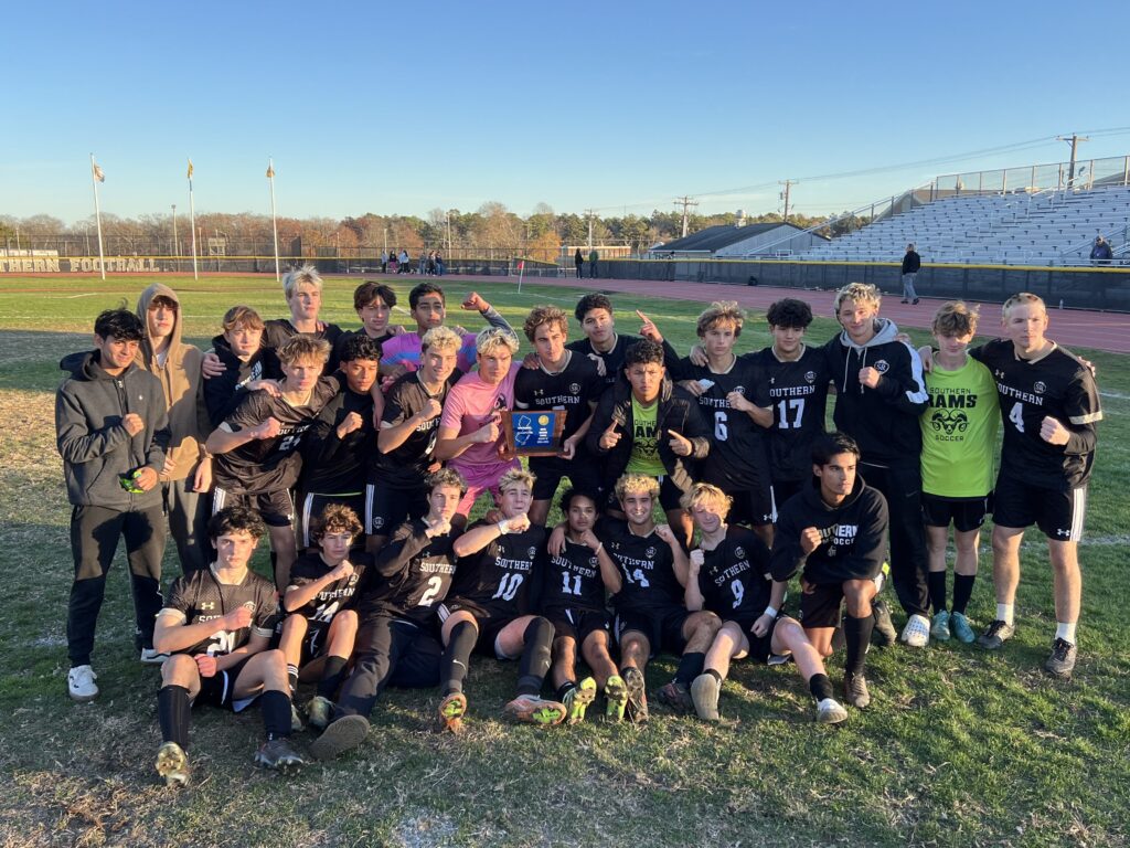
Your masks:
M 455 369 L 436 395 L 432 395 L 420 382 L 419 372 L 410 371 L 401 375 L 384 396 L 384 415 L 381 418 L 382 429 L 403 424 L 423 409 L 428 400 L 435 399 L 443 405 L 451 387 L 459 382 L 462 372 Z M 382 453 L 373 452 L 370 482 L 392 483 L 394 485 L 416 485 L 427 474 L 427 468 L 434 461 L 435 443 L 440 436 L 441 415 L 431 421 L 417 424 L 408 439 L 394 450 Z

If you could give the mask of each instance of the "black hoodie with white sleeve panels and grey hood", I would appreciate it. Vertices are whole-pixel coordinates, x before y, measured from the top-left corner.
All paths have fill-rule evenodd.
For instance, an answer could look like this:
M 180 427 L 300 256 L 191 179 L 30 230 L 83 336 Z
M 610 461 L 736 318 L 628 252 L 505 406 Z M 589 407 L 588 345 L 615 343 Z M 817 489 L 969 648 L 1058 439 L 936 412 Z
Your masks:
M 898 341 L 898 328 L 886 318 L 876 319 L 876 334 L 862 345 L 847 331 L 824 346 L 836 384 L 836 429 L 859 444 L 861 462 L 878 466 L 918 467 L 922 456 L 919 416 L 930 406 L 922 374 L 922 360 L 910 345 Z M 879 372 L 879 383 L 869 389 L 859 381 L 864 367 Z

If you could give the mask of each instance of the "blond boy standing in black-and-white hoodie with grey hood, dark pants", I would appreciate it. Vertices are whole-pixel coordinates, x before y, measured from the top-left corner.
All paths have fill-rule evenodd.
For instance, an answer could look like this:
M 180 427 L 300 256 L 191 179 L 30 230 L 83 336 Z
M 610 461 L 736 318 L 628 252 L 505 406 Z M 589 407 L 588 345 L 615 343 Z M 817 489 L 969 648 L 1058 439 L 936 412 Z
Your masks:
M 836 293 L 843 332 L 825 346 L 836 384 L 836 427 L 859 445 L 860 470 L 884 494 L 890 510 L 890 574 L 906 611 L 902 641 L 930 641 L 925 533 L 922 527 L 922 430 L 919 418 L 930 396 L 922 361 L 895 337 L 898 328 L 879 318 L 875 286 L 850 283 Z

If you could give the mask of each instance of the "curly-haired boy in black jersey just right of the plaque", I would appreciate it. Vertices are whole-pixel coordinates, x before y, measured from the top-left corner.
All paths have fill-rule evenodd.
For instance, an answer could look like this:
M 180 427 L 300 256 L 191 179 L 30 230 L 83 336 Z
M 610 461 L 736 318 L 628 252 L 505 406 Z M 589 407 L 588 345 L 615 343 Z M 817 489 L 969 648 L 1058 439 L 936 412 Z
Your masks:
M 589 453 L 584 436 L 592 423 L 605 381 L 596 363 L 565 348 L 568 319 L 556 306 L 536 306 L 525 319 L 525 337 L 533 343 L 537 366 L 522 369 L 514 378 L 515 409 L 564 409 L 562 451 L 556 457 L 530 457 L 537 482 L 530 521 L 545 525 L 549 502 L 563 477 L 580 488 L 596 492 L 600 471 Z

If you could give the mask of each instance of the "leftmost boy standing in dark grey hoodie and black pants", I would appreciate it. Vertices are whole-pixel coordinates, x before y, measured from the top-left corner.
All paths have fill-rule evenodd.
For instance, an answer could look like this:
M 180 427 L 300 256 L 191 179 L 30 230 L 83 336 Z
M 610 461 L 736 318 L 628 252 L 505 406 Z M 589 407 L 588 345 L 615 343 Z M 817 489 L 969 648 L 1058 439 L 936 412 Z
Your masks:
M 70 377 L 55 392 L 55 445 L 63 460 L 71 511 L 75 580 L 67 607 L 67 689 L 76 701 L 98 694 L 90 666 L 106 574 L 125 539 L 142 663 L 159 663 L 154 616 L 160 609 L 165 552 L 160 471 L 168 445 L 168 413 L 160 381 L 134 362 L 145 327 L 124 309 L 94 322 L 90 353 L 60 364 Z

